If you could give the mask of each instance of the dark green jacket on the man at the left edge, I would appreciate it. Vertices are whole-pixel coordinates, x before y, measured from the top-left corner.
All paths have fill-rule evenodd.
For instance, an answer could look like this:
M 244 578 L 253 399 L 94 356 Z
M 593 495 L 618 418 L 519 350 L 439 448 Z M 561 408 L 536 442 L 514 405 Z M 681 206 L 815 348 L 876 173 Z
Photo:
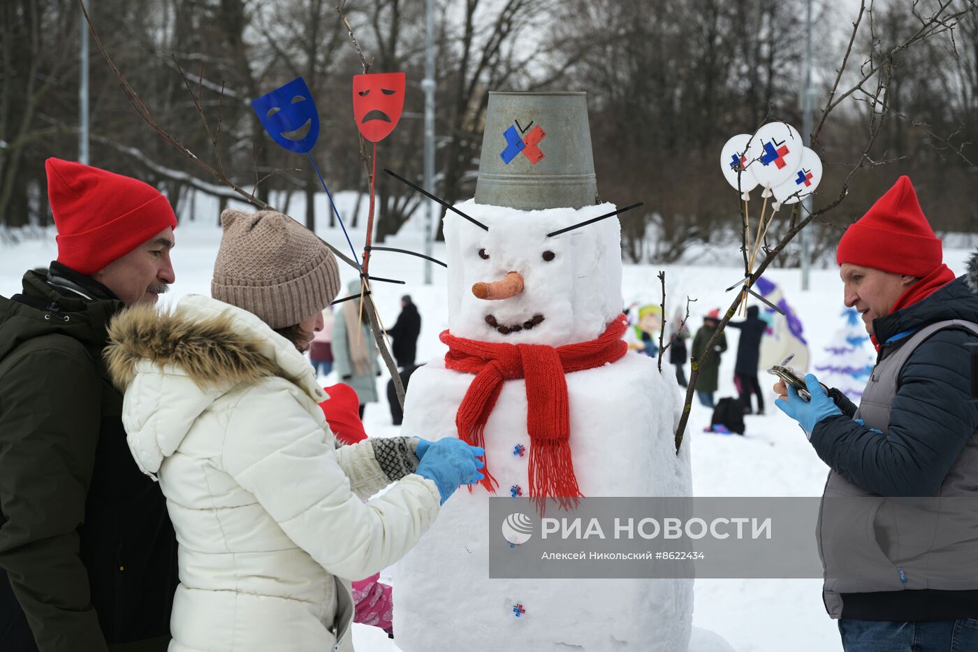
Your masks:
M 31 649 L 4 639 L 18 603 L 42 652 L 164 649 L 113 645 L 168 638 L 177 582 L 165 501 L 132 460 L 102 362 L 123 305 L 54 267 L 91 299 L 34 272 L 0 297 L 0 649 Z

